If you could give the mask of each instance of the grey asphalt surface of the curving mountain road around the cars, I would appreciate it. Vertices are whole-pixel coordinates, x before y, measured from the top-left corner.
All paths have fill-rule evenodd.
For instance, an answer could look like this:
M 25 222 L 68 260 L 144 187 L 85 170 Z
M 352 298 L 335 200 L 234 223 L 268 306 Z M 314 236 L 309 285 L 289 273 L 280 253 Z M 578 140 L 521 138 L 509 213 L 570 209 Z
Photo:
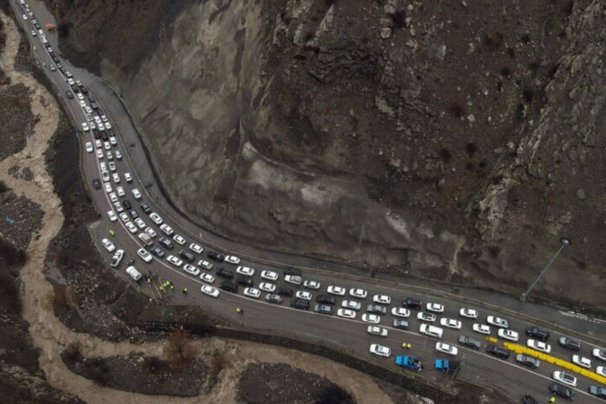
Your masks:
M 36 18 L 39 24 L 42 25 L 42 30 L 47 35 L 49 44 L 55 48 L 55 53 L 57 54 L 58 46 L 56 43 L 56 34 L 48 33 L 44 29 L 44 24 L 47 22 L 54 23 L 52 16 L 45 10 L 44 5 L 40 2 L 32 0 L 28 2 L 28 4 L 32 7 L 34 13 L 33 18 Z M 66 94 L 67 92 L 72 91 L 72 86 L 68 85 L 66 81 L 67 77 L 59 70 L 50 70 L 50 65 L 54 65 L 55 62 L 51 59 L 47 48 L 42 44 L 41 36 L 39 34 L 36 36 L 30 34 L 30 32 L 35 29 L 32 25 L 32 17 L 28 17 L 27 20 L 20 18 L 21 15 L 24 14 L 21 4 L 19 4 L 19 1 L 13 0 L 12 5 L 15 14 L 18 16 L 18 22 L 21 24 L 21 27 L 24 28 L 26 36 L 30 39 L 32 56 L 39 62 L 41 68 L 53 83 L 59 98 L 64 103 L 75 126 L 81 129 L 81 123 L 87 122 L 87 117 L 86 112 L 79 103 L 78 94 L 75 94 L 76 97 L 73 99 L 67 97 Z M 98 103 L 99 107 L 105 112 L 117 141 L 117 145 L 111 146 L 109 151 L 111 151 L 113 155 L 115 155 L 116 151 L 120 151 L 122 154 L 121 160 L 116 158 L 108 160 L 107 150 L 101 147 L 103 150 L 102 157 L 99 158 L 96 154 L 97 148 L 94 147 L 95 139 L 93 138 L 92 131 L 81 131 L 80 134 L 75 134 L 80 138 L 82 151 L 79 156 L 73 156 L 73 158 L 74 161 L 76 161 L 76 158 L 79 158 L 88 191 L 90 192 L 96 209 L 101 213 L 100 220 L 90 226 L 90 233 L 92 234 L 93 240 L 96 242 L 99 251 L 108 261 L 110 261 L 113 253 L 107 252 L 107 250 L 101 246 L 100 241 L 102 238 L 110 239 L 117 249 L 125 251 L 125 257 L 116 271 L 125 282 L 132 282 L 133 287 L 139 288 L 142 293 L 147 293 L 150 296 L 158 296 L 158 292 L 152 292 L 145 281 L 137 283 L 128 277 L 125 273 L 125 268 L 127 267 L 127 261 L 130 259 L 135 260 L 134 266 L 139 272 L 158 274 L 161 278 L 170 279 L 170 281 L 173 282 L 175 289 L 165 295 L 165 302 L 174 304 L 199 304 L 222 313 L 242 324 L 267 328 L 282 333 L 296 334 L 315 340 L 324 340 L 331 344 L 340 345 L 346 350 L 353 350 L 360 354 L 364 354 L 373 360 L 384 360 L 385 364 L 388 364 L 388 366 L 391 366 L 391 363 L 393 363 L 395 354 L 420 356 L 424 359 L 426 365 L 425 370 L 420 374 L 427 377 L 427 379 L 435 380 L 439 383 L 447 383 L 448 379 L 444 374 L 432 369 L 433 360 L 447 356 L 436 351 L 435 339 L 430 339 L 419 334 L 419 325 L 422 324 L 422 322 L 416 318 L 418 311 L 411 310 L 410 318 L 406 319 L 410 322 L 409 330 L 398 330 L 391 327 L 394 317 L 391 316 L 390 310 L 392 307 L 401 307 L 400 302 L 402 299 L 414 297 L 422 299 L 424 304 L 426 302 L 439 303 L 444 305 L 445 309 L 444 313 L 437 314 L 438 319 L 436 320 L 435 325 L 439 326 L 439 320 L 441 318 L 453 318 L 462 321 L 461 330 L 450 330 L 441 327 L 444 329 L 444 342 L 451 343 L 459 348 L 459 353 L 456 358 L 451 358 L 460 360 L 463 363 L 458 377 L 482 385 L 502 389 L 508 396 L 516 400 L 526 393 L 533 394 L 536 398 L 541 399 L 549 397 L 547 387 L 553 383 L 551 374 L 556 368 L 549 363 L 541 363 L 538 370 L 532 370 L 514 362 L 513 354 L 510 359 L 502 360 L 485 353 L 484 347 L 487 344 L 487 342 L 484 341 L 485 336 L 474 332 L 471 329 L 471 326 L 473 322 L 486 324 L 486 317 L 489 314 L 509 318 L 509 328 L 519 332 L 519 343 L 522 345 L 525 345 L 526 337 L 524 335 L 524 330 L 526 326 L 528 324 L 534 324 L 533 321 L 529 321 L 530 318 L 534 318 L 536 319 L 536 322 L 542 322 L 542 324 L 545 324 L 545 322 L 552 324 L 553 327 L 551 327 L 551 337 L 549 339 L 552 347 L 551 354 L 565 360 L 570 360 L 571 354 L 573 353 L 558 346 L 557 339 L 563 334 L 561 330 L 567 328 L 569 330 L 574 330 L 579 334 L 585 334 L 587 340 L 581 338 L 583 346 L 580 354 L 592 360 L 593 368 L 597 365 L 606 365 L 606 362 L 591 355 L 591 350 L 597 346 L 591 342 L 596 339 L 604 340 L 604 336 L 606 335 L 606 323 L 599 319 L 587 318 L 578 313 L 561 312 L 554 308 L 541 305 L 522 304 L 521 302 L 516 301 L 516 299 L 511 299 L 508 296 L 492 292 L 462 289 L 462 298 L 473 299 L 473 301 L 477 303 L 469 304 L 468 302 L 470 300 L 463 301 L 451 295 L 446 295 L 443 292 L 444 289 L 439 287 L 439 285 L 431 285 L 431 290 L 425 290 L 421 293 L 421 289 L 418 287 L 428 287 L 428 284 L 423 284 L 422 282 L 416 282 L 410 285 L 394 284 L 393 282 L 387 282 L 390 280 L 387 276 L 378 276 L 378 278 L 375 279 L 360 279 L 351 276 L 342 276 L 340 275 L 342 272 L 350 272 L 355 275 L 364 275 L 364 272 L 333 262 L 321 261 L 312 257 L 287 255 L 284 253 L 258 249 L 252 246 L 245 246 L 236 241 L 225 239 L 200 224 L 192 223 L 187 217 L 182 215 L 181 212 L 178 212 L 175 207 L 171 206 L 170 202 L 167 201 L 167 198 L 162 194 L 161 186 L 156 182 L 150 161 L 148 160 L 147 155 L 145 155 L 144 146 L 141 144 L 142 139 L 137 132 L 138 129 L 135 128 L 133 120 L 129 118 L 124 103 L 119 100 L 118 96 L 116 96 L 104 80 L 93 76 L 85 70 L 73 67 L 68 60 L 65 60 L 60 56 L 59 59 L 61 59 L 63 67 L 67 71 L 73 73 L 73 80 L 81 80 L 83 85 L 88 88 L 89 93 L 87 96 L 94 97 L 95 102 Z M 91 102 L 89 102 L 87 96 L 84 96 L 84 104 L 85 106 L 90 107 Z M 92 115 L 95 116 L 96 112 L 93 111 Z M 85 143 L 87 142 L 92 142 L 94 148 L 92 152 L 85 151 Z M 136 256 L 136 251 L 142 247 L 142 243 L 138 239 L 138 234 L 142 232 L 142 229 L 137 227 L 135 232 L 130 232 L 120 218 L 118 218 L 117 221 L 110 221 L 107 212 L 116 209 L 110 202 L 109 193 L 105 192 L 104 187 L 95 189 L 92 186 L 93 178 L 98 178 L 101 183 L 104 182 L 102 181 L 99 165 L 101 162 L 108 165 L 110 161 L 115 163 L 115 172 L 118 173 L 120 182 L 115 183 L 115 181 L 110 179 L 107 183 L 112 187 L 112 192 L 115 192 L 118 186 L 123 187 L 125 196 L 119 198 L 119 201 L 128 199 L 130 203 L 132 203 L 133 209 L 136 210 L 139 217 L 145 222 L 146 227 L 150 227 L 158 234 L 153 238 L 153 245 L 159 246 L 158 239 L 166 235 L 159 229 L 159 226 L 156 226 L 156 224 L 150 220 L 150 217 L 143 212 L 139 206 L 141 203 L 147 203 L 153 212 L 157 212 L 162 217 L 164 223 L 167 223 L 174 229 L 175 234 L 179 234 L 185 238 L 186 243 L 184 246 L 179 246 L 179 244 L 172 240 L 174 234 L 167 237 L 171 239 L 174 248 L 172 250 L 167 250 L 162 247 L 162 250 L 165 252 L 165 257 L 170 254 L 178 256 L 179 250 L 184 249 L 195 256 L 195 261 L 192 262 L 194 265 L 201 259 L 212 262 L 214 265 L 212 270 L 201 270 L 202 272 L 210 273 L 216 277 L 213 284 L 215 287 L 223 280 L 220 276 L 217 276 L 216 269 L 225 267 L 225 269 L 230 269 L 235 272 L 236 265 L 228 263 L 219 264 L 218 262 L 212 261 L 206 256 L 207 252 L 211 250 L 234 253 L 242 258 L 241 265 L 253 267 L 255 269 L 255 275 L 252 276 L 251 279 L 255 283 L 255 287 L 258 287 L 259 283 L 262 281 L 270 282 L 267 281 L 267 279 L 261 279 L 259 274 L 262 270 L 272 270 L 279 274 L 278 281 L 273 282 L 278 288 L 290 287 L 295 292 L 297 290 L 303 290 L 297 285 L 285 283 L 284 277 L 282 276 L 282 270 L 287 266 L 302 268 L 304 279 L 313 279 L 321 283 L 319 291 L 310 290 L 310 292 L 313 293 L 313 298 L 310 302 L 310 311 L 301 311 L 291 308 L 288 304 L 291 298 L 286 296 L 281 305 L 268 304 L 265 302 L 265 292 L 262 293 L 260 299 L 247 298 L 242 295 L 244 287 L 239 287 L 237 294 L 221 291 L 218 298 L 211 298 L 200 292 L 200 287 L 204 285 L 204 282 L 202 282 L 198 276 L 191 276 L 188 273 L 185 273 L 180 267 L 171 265 L 164 259 L 165 257 L 162 259 L 154 257 L 153 261 L 149 263 L 142 261 L 142 259 Z M 114 173 L 109 170 L 108 172 L 110 177 Z M 127 182 L 125 180 L 124 174 L 127 172 L 132 175 L 132 182 Z M 147 187 L 144 186 L 144 184 L 146 184 Z M 133 197 L 132 190 L 135 188 L 141 192 L 141 200 L 136 200 L 135 197 Z M 127 212 L 126 209 L 125 212 Z M 129 221 L 133 223 L 133 220 Z M 110 229 L 115 232 L 114 236 L 110 236 Z M 197 243 L 204 247 L 204 252 L 202 254 L 196 254 L 188 249 L 188 246 L 191 243 Z M 108 266 L 107 270 L 114 269 L 111 269 Z M 359 287 L 367 290 L 368 298 L 364 300 L 353 299 L 361 301 L 362 303 L 362 308 L 356 314 L 355 319 L 344 319 L 336 316 L 337 308 L 340 307 L 342 299 L 348 298 L 348 293 L 346 293 L 344 298 L 335 296 L 337 298 L 337 304 L 333 308 L 333 314 L 331 316 L 313 313 L 316 295 L 319 293 L 326 293 L 328 285 L 338 285 L 346 288 L 347 291 L 351 287 Z M 187 295 L 181 292 L 183 287 L 187 287 Z M 366 331 L 368 324 L 361 321 L 361 316 L 362 313 L 365 313 L 366 305 L 370 304 L 372 296 L 375 294 L 388 295 L 391 297 L 391 304 L 388 305 L 388 313 L 381 316 L 381 323 L 379 324 L 388 329 L 387 337 L 371 336 Z M 501 314 L 501 311 L 487 308 L 487 306 L 481 302 L 492 303 L 506 311 Z M 236 307 L 242 308 L 244 314 L 237 314 L 235 311 Z M 459 316 L 459 309 L 462 307 L 470 307 L 478 310 L 478 319 L 473 320 Z M 512 311 L 518 312 L 520 316 L 512 316 Z M 497 328 L 491 326 L 490 336 L 496 337 L 496 332 Z M 481 340 L 482 347 L 479 350 L 462 347 L 457 343 L 460 335 L 467 335 Z M 400 348 L 402 342 L 408 342 L 413 345 L 413 347 L 410 350 L 404 351 Z M 392 351 L 391 357 L 389 359 L 379 359 L 368 353 L 368 347 L 373 343 L 390 347 Z M 604 345 L 604 343 L 601 343 L 601 345 Z M 579 385 L 576 388 L 576 401 L 599 402 L 599 400 L 586 393 L 587 387 L 592 384 L 595 385 L 595 382 L 590 382 L 590 380 L 579 375 L 575 376 L 578 376 L 579 379 Z

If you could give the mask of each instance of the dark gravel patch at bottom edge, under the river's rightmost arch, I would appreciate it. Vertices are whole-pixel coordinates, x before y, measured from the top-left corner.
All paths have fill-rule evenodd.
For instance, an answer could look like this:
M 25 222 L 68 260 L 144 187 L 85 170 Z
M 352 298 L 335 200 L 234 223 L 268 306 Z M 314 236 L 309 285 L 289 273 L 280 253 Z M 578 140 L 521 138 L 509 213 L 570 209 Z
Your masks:
M 353 398 L 335 383 L 282 364 L 248 365 L 237 389 L 238 400 L 250 404 L 354 403 Z

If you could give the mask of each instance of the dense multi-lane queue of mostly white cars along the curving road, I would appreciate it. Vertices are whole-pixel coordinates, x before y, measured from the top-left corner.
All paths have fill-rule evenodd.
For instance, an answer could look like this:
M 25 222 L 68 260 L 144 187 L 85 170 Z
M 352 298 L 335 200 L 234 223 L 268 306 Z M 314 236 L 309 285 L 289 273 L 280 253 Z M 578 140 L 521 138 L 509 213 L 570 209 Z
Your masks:
M 50 74 L 62 75 L 70 88 L 65 96 L 78 102 L 84 116 L 84 122 L 80 123 L 82 143 L 84 153 L 95 158 L 98 165 L 98 175 L 91 181 L 94 192 L 105 194 L 107 210 L 104 216 L 110 226 L 122 228 L 141 247 L 133 254 L 141 261 L 136 263 L 130 260 L 125 266 L 125 272 L 134 281 L 145 278 L 151 264 L 160 262 L 167 269 L 196 279 L 201 285 L 200 292 L 205 296 L 219 298 L 222 292 L 228 292 L 245 299 L 360 322 L 367 334 L 376 337 L 368 352 L 379 357 L 391 357 L 393 352 L 393 347 L 382 345 L 381 339 L 390 333 L 402 331 L 403 339 L 406 333 L 436 339 L 435 350 L 440 356 L 453 358 L 459 355 L 461 349 L 481 352 L 484 345 L 484 352 L 490 356 L 502 360 L 509 360 L 513 356 L 511 362 L 534 371 L 541 368 L 539 359 L 527 354 L 510 355 L 511 351 L 497 341 L 525 345 L 545 354 L 552 352 L 550 332 L 534 325 L 516 331 L 510 328 L 508 319 L 489 313 L 481 316 L 476 308 L 446 310 L 445 305 L 439 302 L 423 302 L 410 296 L 396 298 L 395 295 L 372 293 L 362 287 L 321 284 L 291 267 L 280 270 L 280 273 L 271 269 L 258 270 L 242 262 L 238 256 L 205 250 L 196 240 L 179 234 L 165 223 L 168 218 L 163 218 L 144 200 L 144 187 L 139 186 L 136 175 L 128 171 L 119 149 L 122 142 L 118 129 L 101 109 L 101 103 L 90 94 L 84 83 L 65 70 L 27 2 L 20 2 L 24 10 L 22 19 L 33 25 L 31 35 L 38 37 L 54 63 L 48 65 L 48 70 L 52 72 Z M 113 235 L 115 231 L 112 229 L 110 237 L 101 239 L 101 246 L 107 250 L 110 267 L 118 268 L 125 257 L 125 249 L 115 246 L 110 239 Z M 445 334 L 448 339 L 452 338 L 450 342 L 444 341 Z M 522 341 L 524 336 L 527 338 Z M 488 337 L 492 338 L 488 340 Z M 606 350 L 584 347 L 582 342 L 568 336 L 559 336 L 556 343 L 560 347 L 560 354 L 570 351 L 570 356 L 562 359 L 606 377 Z M 397 348 L 410 349 L 409 345 L 404 342 L 402 347 Z M 402 361 L 399 358 L 396 362 L 398 360 Z M 576 389 L 578 376 L 570 371 L 554 371 L 550 374 L 554 382 L 546 388 L 551 394 L 573 399 L 575 393 L 579 392 Z M 601 386 L 588 385 L 587 391 L 595 397 L 606 399 L 606 389 Z

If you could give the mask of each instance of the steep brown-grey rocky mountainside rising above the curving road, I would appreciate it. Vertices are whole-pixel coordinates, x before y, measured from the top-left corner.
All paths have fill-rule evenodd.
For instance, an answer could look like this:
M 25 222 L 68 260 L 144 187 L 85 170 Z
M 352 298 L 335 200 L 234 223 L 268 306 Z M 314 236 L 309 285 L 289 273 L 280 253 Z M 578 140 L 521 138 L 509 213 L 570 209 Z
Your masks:
M 201 223 L 508 292 L 567 235 L 604 302 L 601 1 L 48 1 Z

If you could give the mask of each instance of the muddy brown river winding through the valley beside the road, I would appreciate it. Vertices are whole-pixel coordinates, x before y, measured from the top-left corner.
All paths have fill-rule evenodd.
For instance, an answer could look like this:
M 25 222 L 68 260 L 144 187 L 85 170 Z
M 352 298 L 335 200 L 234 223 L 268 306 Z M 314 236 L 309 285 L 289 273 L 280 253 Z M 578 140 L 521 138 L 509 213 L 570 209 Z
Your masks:
M 61 230 L 64 217 L 61 212 L 61 200 L 53 192 L 52 178 L 45 169 L 44 151 L 58 126 L 59 108 L 55 99 L 47 93 L 32 76 L 15 70 L 15 56 L 19 47 L 19 32 L 12 19 L 0 12 L 7 34 L 4 51 L 3 70 L 13 84 L 22 83 L 32 90 L 32 112 L 39 117 L 33 135 L 28 138 L 27 146 L 18 154 L 7 157 L 0 163 L 0 178 L 18 195 L 24 195 L 38 203 L 44 210 L 42 229 L 39 237 L 32 239 L 28 246 L 28 261 L 21 270 L 23 317 L 30 324 L 33 345 L 41 353 L 39 365 L 50 384 L 67 393 L 75 394 L 89 403 L 233 403 L 235 387 L 241 370 L 251 362 L 298 363 L 298 367 L 311 373 L 325 376 L 347 389 L 359 403 L 389 403 L 391 399 L 370 377 L 359 371 L 351 370 L 339 363 L 318 356 L 272 347 L 251 342 L 222 340 L 216 338 L 196 340 L 201 353 L 214 350 L 227 351 L 230 367 L 221 373 L 221 382 L 209 394 L 191 398 L 145 396 L 127 393 L 96 385 L 84 377 L 73 374 L 61 360 L 64 347 L 78 342 L 82 354 L 92 356 L 115 356 L 132 352 L 145 355 L 162 356 L 162 342 L 150 344 L 112 343 L 91 337 L 87 334 L 69 330 L 56 318 L 52 308 L 53 287 L 44 276 L 44 258 L 48 243 Z M 32 170 L 33 180 L 25 181 L 8 174 L 14 165 Z

